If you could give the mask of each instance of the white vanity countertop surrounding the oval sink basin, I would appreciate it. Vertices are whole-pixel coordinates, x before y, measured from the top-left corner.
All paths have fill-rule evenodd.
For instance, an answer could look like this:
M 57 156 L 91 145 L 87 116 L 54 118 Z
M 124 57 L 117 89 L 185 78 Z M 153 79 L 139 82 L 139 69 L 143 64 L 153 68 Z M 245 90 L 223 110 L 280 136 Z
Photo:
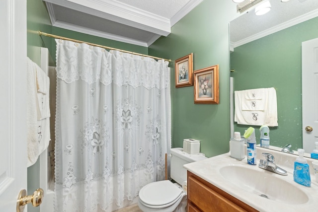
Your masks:
M 258 167 L 259 158 L 262 158 L 262 152 L 268 152 L 275 156 L 276 165 L 285 169 L 288 173 L 287 176 L 279 175 L 268 170 L 264 170 Z M 294 161 L 296 155 L 287 154 L 283 152 L 277 152 L 270 149 L 257 148 L 257 165 L 249 165 L 245 159 L 239 161 L 230 156 L 230 153 L 221 154 L 204 160 L 200 160 L 193 163 L 185 164 L 183 167 L 193 174 L 201 177 L 207 182 L 215 185 L 216 187 L 222 189 L 233 197 L 239 199 L 240 201 L 246 203 L 247 205 L 255 208 L 260 212 L 318 212 L 318 183 L 315 182 L 314 170 L 311 167 L 311 187 L 302 186 L 296 183 L 293 179 L 293 169 Z M 311 166 L 311 161 L 313 159 L 306 158 Z M 292 184 L 296 188 L 303 191 L 308 196 L 308 201 L 303 204 L 293 204 L 285 203 L 282 201 L 275 201 L 271 199 L 266 199 L 253 194 L 247 190 L 240 188 L 238 185 L 233 184 L 229 180 L 225 179 L 219 172 L 221 167 L 227 165 L 241 166 L 248 169 L 257 169 L 260 172 L 266 172 L 271 174 L 271 177 L 277 177 L 281 180 L 287 182 L 287 184 Z M 253 176 L 250 176 L 251 178 Z M 292 187 L 294 188 L 294 187 Z M 271 189 L 271 188 L 268 188 Z M 280 189 L 280 188 L 272 188 Z M 297 190 L 297 189 L 295 189 Z M 296 192 L 296 191 L 295 191 Z M 293 192 L 291 192 L 293 193 Z M 287 195 L 288 196 L 288 195 Z

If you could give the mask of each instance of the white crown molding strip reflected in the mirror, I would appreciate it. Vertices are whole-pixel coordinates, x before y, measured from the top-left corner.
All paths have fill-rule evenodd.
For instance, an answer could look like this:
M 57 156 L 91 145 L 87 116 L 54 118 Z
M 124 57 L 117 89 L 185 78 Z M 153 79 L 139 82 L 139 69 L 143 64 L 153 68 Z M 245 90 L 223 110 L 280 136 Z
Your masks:
M 233 43 L 233 48 L 236 48 L 236 47 L 241 46 L 243 44 L 246 44 L 246 43 L 249 43 L 251 41 L 257 40 L 259 38 L 265 37 L 267 35 L 273 34 L 275 32 L 278 32 L 280 30 L 283 30 L 283 29 L 286 29 L 288 27 L 294 26 L 296 24 L 299 24 L 301 22 L 307 21 L 307 20 L 312 19 L 312 18 L 317 17 L 317 16 L 318 16 L 318 9 L 313 10 L 313 11 L 311 11 L 309 13 L 304 14 L 304 15 L 301 15 L 299 17 L 296 17 L 294 19 L 291 19 L 289 21 L 286 21 L 286 22 L 284 22 L 282 24 L 279 24 L 279 25 L 274 26 L 272 28 L 269 28 L 267 30 L 264 30 L 262 32 L 259 32 L 257 34 L 254 34 L 252 36 L 249 36 L 247 38 L 244 38 L 242 40 L 239 40 L 239 41 Z

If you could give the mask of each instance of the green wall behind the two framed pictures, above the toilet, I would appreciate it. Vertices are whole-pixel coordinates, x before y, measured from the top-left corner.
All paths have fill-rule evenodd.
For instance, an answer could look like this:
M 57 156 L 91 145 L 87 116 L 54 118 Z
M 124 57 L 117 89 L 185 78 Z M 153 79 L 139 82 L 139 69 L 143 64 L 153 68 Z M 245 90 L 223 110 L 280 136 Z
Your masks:
M 171 28 L 171 34 L 149 47 L 149 54 L 173 60 L 171 67 L 172 147 L 183 139 L 201 141 L 206 156 L 229 151 L 229 22 L 231 0 L 204 0 Z M 220 104 L 194 104 L 193 86 L 175 88 L 174 60 L 193 53 L 193 70 L 219 64 Z

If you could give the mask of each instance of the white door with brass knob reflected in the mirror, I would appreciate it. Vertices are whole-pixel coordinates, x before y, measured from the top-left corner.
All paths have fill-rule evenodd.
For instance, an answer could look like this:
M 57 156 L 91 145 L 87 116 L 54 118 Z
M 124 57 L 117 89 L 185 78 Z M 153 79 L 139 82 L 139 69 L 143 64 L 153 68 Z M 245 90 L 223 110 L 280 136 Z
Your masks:
M 318 141 L 318 38 L 302 43 L 303 148 Z

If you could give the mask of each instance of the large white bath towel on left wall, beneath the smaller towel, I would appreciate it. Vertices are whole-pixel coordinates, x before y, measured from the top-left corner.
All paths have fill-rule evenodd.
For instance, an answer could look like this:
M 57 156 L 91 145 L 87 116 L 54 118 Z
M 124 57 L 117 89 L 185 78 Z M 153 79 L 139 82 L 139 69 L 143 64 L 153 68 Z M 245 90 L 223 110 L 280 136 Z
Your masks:
M 27 58 L 27 166 L 33 165 L 50 142 L 50 118 L 38 121 L 37 65 Z M 49 94 L 48 94 L 49 95 Z

